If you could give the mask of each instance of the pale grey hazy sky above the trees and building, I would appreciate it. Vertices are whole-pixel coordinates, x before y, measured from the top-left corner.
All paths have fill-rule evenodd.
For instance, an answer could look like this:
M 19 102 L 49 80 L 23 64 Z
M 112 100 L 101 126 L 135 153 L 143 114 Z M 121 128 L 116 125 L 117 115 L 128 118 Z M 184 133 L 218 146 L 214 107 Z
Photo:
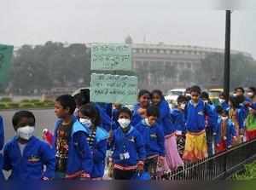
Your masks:
M 224 48 L 225 13 L 217 10 L 224 4 L 218 1 L 6 0 L 1 3 L 0 43 L 124 42 L 130 34 L 135 43 L 146 37 L 147 43 Z M 233 0 L 238 10 L 232 13 L 231 48 L 256 58 L 255 1 L 244 5 Z

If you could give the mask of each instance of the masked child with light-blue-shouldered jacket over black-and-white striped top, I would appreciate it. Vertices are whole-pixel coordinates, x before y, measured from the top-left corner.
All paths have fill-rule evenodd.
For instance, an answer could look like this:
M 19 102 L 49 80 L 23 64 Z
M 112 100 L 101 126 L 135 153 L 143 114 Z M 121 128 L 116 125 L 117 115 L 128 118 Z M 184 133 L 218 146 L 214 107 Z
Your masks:
M 87 141 L 93 157 L 93 168 L 90 177 L 93 180 L 102 180 L 105 169 L 108 132 L 99 126 L 101 124 L 99 112 L 90 103 L 80 107 L 79 121 L 89 131 Z

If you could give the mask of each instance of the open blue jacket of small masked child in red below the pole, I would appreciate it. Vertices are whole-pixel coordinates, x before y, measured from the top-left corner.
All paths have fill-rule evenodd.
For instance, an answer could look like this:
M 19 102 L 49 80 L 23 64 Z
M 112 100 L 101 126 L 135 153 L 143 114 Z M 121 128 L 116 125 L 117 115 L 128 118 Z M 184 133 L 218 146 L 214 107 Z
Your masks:
M 216 131 L 216 136 L 215 136 L 215 143 L 218 144 L 222 141 L 221 139 L 221 124 L 224 121 L 221 119 L 221 117 L 218 117 L 218 127 L 217 127 L 217 131 Z M 234 136 L 236 136 L 236 130 L 235 130 L 235 125 L 233 124 L 233 122 L 231 121 L 231 119 L 228 119 L 227 121 L 227 128 L 226 128 L 226 146 L 229 147 L 230 145 L 232 145 L 232 139 Z

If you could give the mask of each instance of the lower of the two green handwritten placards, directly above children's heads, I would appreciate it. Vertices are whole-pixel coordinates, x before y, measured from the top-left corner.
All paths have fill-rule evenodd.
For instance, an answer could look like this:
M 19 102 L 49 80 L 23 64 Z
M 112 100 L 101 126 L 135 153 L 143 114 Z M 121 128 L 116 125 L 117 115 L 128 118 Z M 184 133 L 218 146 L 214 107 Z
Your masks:
M 92 73 L 90 77 L 90 100 L 134 104 L 137 102 L 137 77 Z

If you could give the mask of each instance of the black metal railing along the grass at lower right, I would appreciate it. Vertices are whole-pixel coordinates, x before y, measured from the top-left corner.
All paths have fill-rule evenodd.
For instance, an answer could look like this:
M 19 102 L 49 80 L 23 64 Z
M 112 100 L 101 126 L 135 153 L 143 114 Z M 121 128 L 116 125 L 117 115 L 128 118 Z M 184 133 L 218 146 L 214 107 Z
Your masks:
M 185 164 L 182 170 L 173 171 L 169 180 L 212 181 L 226 179 L 243 165 L 256 158 L 256 140 L 232 147 L 224 153 L 206 158 L 193 164 Z

